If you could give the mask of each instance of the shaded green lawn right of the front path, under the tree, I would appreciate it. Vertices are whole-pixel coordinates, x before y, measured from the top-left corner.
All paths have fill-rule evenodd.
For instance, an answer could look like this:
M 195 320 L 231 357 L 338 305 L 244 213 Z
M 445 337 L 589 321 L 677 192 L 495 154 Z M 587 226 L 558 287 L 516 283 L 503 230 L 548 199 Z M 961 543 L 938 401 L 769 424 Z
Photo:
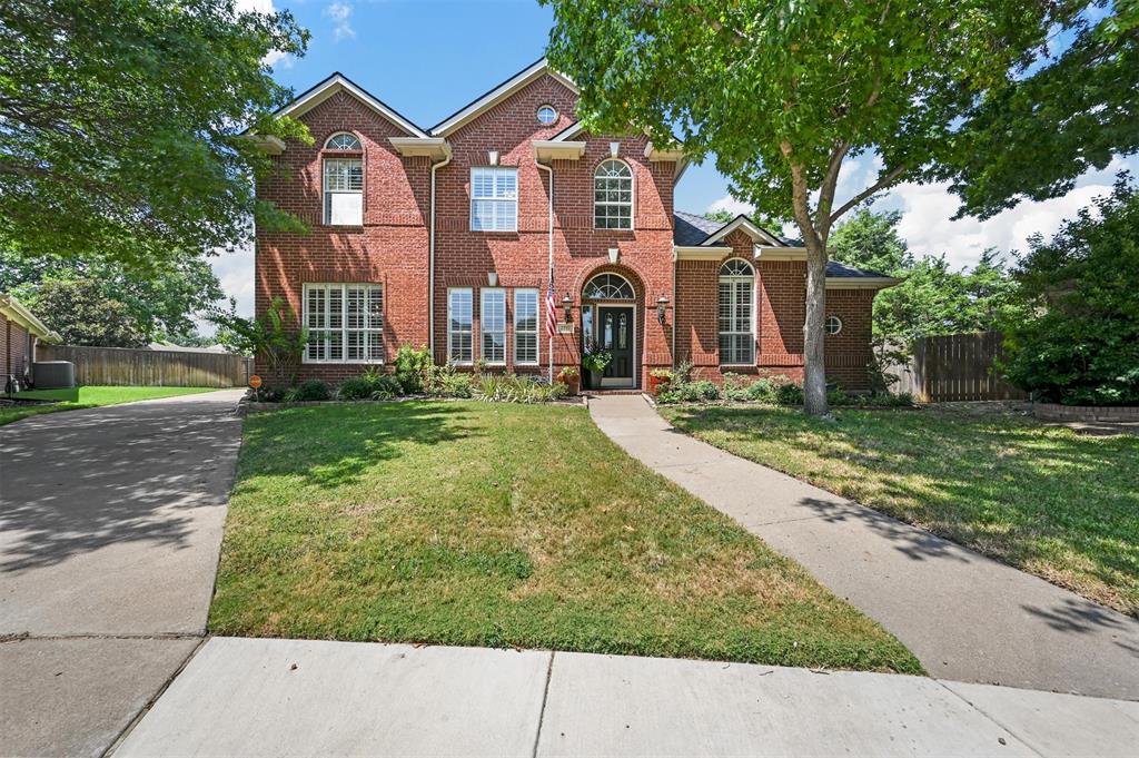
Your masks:
M 1139 437 L 1013 413 L 663 409 L 744 458 L 1139 616 Z

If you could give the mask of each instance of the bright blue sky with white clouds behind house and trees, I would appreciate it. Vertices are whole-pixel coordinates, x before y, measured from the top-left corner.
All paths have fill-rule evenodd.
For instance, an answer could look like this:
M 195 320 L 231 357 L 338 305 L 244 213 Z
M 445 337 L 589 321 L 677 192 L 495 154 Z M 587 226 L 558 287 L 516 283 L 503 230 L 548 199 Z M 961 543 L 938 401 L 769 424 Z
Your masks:
M 552 13 L 536 0 L 238 0 L 257 10 L 293 11 L 312 34 L 303 58 L 273 62 L 273 75 L 302 92 L 339 71 L 423 127 L 431 127 L 542 56 Z M 1024 250 L 1032 234 L 1052 234 L 1091 198 L 1111 189 L 1116 171 L 1139 173 L 1139 160 L 1117 160 L 1081 178 L 1067 196 L 1017 207 L 981 222 L 952 221 L 956 198 L 941 185 L 901 185 L 876 207 L 902 211 L 900 231 L 918 255 L 944 253 L 972 266 L 986 247 Z M 872 156 L 847 162 L 842 195 L 853 195 L 876 173 Z M 749 211 L 728 195 L 713 166 L 693 166 L 677 187 L 678 210 Z M 793 229 L 788 231 L 794 234 Z M 239 312 L 253 309 L 253 255 L 214 259 Z

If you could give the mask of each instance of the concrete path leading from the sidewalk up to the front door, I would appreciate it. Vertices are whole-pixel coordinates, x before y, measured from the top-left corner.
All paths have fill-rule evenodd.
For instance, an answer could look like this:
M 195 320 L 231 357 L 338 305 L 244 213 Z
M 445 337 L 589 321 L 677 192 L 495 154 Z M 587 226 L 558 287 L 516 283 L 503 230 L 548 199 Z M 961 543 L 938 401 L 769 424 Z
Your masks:
M 1139 700 L 1136 619 L 699 442 L 644 398 L 597 398 L 590 413 L 632 456 L 882 623 L 932 676 Z

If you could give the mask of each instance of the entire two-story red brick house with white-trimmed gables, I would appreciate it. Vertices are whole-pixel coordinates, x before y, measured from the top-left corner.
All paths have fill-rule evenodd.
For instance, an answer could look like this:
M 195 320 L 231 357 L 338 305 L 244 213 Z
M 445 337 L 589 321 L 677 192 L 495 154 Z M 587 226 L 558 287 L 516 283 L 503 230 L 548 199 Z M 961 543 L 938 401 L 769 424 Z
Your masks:
M 802 377 L 806 251 L 746 217 L 674 212 L 682 152 L 584 133 L 576 99 L 543 59 L 432 129 L 338 73 L 282 109 L 316 141 L 262 140 L 278 172 L 259 195 L 312 228 L 259 233 L 256 310 L 281 298 L 301 315 L 304 377 L 401 345 L 544 373 L 580 366 L 590 341 L 615 356 L 608 388 L 683 360 L 716 381 Z M 847 389 L 868 385 L 871 302 L 893 283 L 828 268 L 827 372 Z

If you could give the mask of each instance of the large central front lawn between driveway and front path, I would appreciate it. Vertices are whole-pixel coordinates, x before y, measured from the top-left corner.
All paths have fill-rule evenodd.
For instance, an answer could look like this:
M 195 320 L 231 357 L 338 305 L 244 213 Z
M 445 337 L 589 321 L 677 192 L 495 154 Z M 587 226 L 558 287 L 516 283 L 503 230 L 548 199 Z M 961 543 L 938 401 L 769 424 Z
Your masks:
M 210 629 L 920 670 L 565 406 L 249 416 Z

